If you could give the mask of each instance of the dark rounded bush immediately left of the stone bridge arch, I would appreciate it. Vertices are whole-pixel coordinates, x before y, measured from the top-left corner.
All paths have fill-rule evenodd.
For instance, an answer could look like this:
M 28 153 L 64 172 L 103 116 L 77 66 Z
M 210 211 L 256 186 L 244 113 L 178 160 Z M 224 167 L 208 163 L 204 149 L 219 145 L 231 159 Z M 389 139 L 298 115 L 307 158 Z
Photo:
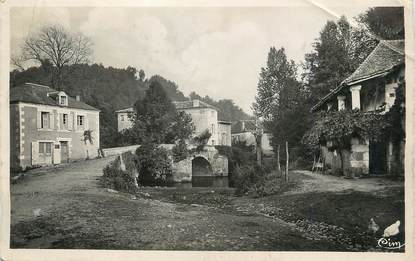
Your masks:
M 164 148 L 147 143 L 137 149 L 136 155 L 140 184 L 164 185 L 172 175 L 172 160 Z

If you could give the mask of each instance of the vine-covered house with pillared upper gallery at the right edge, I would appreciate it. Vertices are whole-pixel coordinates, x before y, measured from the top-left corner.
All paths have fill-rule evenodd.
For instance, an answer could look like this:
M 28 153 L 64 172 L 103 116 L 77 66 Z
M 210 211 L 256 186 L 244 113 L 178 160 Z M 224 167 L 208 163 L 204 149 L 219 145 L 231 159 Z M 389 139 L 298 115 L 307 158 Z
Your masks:
M 393 106 L 396 89 L 405 76 L 403 40 L 380 41 L 363 63 L 337 88 L 323 97 L 312 112 L 360 110 L 385 114 Z M 400 106 L 404 106 L 401 104 Z M 403 122 L 403 125 L 405 123 Z M 404 130 L 403 130 L 404 131 Z M 357 169 L 362 174 L 403 174 L 405 140 L 383 142 L 352 138 L 350 150 L 343 156 L 343 170 Z M 332 142 L 322 146 L 325 168 L 341 168 L 341 155 L 331 150 Z M 396 168 L 400 166 L 400 168 Z M 398 171 L 396 171 L 399 169 Z

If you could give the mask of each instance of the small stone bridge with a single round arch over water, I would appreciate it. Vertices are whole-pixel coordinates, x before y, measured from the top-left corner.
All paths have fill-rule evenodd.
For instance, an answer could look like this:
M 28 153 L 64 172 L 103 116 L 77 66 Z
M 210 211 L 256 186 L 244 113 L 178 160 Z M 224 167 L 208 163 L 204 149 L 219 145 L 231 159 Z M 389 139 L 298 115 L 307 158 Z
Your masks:
M 189 182 L 193 176 L 228 176 L 228 158 L 214 146 L 194 151 L 186 159 L 173 163 L 173 181 Z

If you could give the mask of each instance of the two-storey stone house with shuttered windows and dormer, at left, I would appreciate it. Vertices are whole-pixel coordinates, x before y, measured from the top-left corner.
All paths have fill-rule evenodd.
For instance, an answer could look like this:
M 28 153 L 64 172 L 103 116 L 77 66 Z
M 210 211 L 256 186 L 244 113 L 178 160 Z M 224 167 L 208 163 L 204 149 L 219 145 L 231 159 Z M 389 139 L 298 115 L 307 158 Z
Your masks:
M 99 138 L 99 110 L 79 96 L 34 83 L 10 89 L 11 168 L 97 157 Z

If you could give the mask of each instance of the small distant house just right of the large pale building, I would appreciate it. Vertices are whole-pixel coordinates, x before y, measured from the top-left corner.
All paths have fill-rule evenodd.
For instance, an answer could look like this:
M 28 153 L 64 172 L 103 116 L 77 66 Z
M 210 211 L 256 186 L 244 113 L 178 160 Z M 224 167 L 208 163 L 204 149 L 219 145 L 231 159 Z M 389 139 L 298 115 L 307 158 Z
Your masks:
M 245 142 L 247 146 L 256 146 L 255 142 L 255 121 L 254 120 L 240 120 L 232 124 L 232 143 Z M 271 133 L 267 129 L 264 130 L 261 137 L 262 153 L 265 156 L 274 155 L 271 146 Z

